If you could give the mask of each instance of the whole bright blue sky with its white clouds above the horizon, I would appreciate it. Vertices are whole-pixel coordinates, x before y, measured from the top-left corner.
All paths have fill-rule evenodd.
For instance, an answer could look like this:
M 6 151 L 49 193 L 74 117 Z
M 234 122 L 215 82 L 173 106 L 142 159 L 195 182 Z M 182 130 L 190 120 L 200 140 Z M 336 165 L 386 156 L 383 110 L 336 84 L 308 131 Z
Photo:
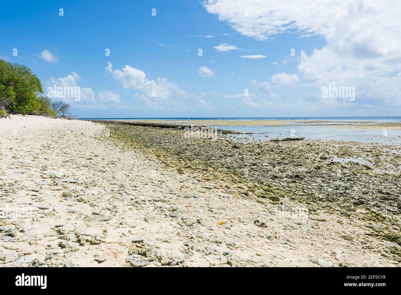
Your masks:
M 9 1 L 0 58 L 30 67 L 45 94 L 79 86 L 63 99 L 79 117 L 399 116 L 399 4 L 330 5 Z M 329 84 L 355 99 L 322 98 Z

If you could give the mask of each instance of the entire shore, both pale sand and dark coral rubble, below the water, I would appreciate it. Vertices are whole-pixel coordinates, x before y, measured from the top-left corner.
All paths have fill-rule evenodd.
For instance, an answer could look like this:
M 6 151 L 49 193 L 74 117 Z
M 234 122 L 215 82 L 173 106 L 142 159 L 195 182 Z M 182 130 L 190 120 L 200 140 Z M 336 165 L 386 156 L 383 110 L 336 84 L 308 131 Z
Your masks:
M 400 266 L 386 146 L 39 116 L 0 130 L 0 267 Z

